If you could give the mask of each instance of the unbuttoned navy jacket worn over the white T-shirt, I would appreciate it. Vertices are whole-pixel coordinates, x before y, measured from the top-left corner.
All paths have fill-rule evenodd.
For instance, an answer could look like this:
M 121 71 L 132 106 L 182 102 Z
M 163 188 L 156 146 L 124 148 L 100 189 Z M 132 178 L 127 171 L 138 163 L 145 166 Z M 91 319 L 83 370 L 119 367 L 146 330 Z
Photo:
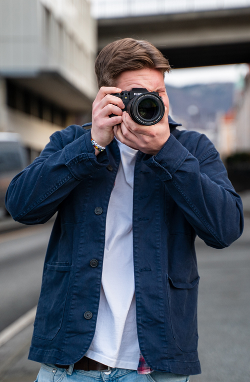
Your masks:
M 242 204 L 207 137 L 178 131 L 169 122 L 171 135 L 162 149 L 155 156 L 139 151 L 134 168 L 137 333 L 152 369 L 197 374 L 194 239 L 198 235 L 214 248 L 230 245 L 242 232 Z M 9 185 L 6 207 L 14 220 L 40 224 L 57 211 L 29 359 L 71 364 L 92 341 L 107 206 L 119 160 L 115 140 L 96 157 L 90 131 L 73 125 L 55 132 Z M 90 266 L 92 259 L 96 267 Z

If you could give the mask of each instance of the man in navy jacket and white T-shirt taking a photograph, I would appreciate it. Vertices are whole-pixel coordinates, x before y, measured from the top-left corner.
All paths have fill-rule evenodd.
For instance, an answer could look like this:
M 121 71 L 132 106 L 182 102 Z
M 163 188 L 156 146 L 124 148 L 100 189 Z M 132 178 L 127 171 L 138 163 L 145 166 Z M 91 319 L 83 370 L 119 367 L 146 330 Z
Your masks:
M 168 117 L 169 69 L 147 42 L 106 46 L 91 130 L 54 133 L 9 186 L 15 220 L 44 223 L 57 211 L 29 353 L 42 362 L 38 382 L 200 373 L 194 239 L 230 245 L 242 205 L 212 143 Z M 159 93 L 160 122 L 142 126 L 122 111 L 112 94 L 132 88 Z

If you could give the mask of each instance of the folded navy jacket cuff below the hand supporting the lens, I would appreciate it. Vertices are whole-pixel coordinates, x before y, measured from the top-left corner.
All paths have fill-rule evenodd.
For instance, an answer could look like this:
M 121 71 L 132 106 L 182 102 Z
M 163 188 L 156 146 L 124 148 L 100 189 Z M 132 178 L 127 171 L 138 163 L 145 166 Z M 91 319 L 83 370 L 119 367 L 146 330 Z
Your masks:
M 144 163 L 164 182 L 172 178 L 172 175 L 182 165 L 187 155 L 188 150 L 170 134 L 170 137 L 160 151 L 149 159 L 144 160 Z

